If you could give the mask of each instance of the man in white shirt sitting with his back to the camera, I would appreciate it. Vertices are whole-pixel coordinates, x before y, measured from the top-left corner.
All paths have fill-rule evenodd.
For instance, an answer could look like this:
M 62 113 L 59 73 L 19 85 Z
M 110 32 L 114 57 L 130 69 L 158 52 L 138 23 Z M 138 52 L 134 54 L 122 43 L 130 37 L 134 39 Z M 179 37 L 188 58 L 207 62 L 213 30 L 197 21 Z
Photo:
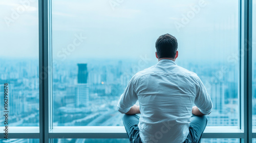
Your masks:
M 161 35 L 156 41 L 158 63 L 137 73 L 119 99 L 131 142 L 201 141 L 211 99 L 197 74 L 176 65 L 177 49 L 174 36 Z

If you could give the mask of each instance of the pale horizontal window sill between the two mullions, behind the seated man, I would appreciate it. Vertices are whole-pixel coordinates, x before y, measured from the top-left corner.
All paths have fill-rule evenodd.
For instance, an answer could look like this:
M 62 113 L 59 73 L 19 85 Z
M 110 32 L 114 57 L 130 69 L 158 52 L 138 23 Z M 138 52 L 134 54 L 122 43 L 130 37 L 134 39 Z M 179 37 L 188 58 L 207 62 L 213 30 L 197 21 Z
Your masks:
M 54 127 L 50 138 L 127 138 L 123 126 L 77 126 Z M 202 138 L 243 138 L 244 133 L 238 127 L 206 127 Z

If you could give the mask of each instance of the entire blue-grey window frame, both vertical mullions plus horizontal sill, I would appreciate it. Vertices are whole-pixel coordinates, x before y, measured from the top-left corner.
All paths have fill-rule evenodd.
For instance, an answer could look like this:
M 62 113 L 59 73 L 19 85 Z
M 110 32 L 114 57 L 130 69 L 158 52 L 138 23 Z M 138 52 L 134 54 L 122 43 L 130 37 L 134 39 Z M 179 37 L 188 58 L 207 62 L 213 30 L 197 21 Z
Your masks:
M 252 142 L 252 0 L 239 1 L 239 125 L 206 127 L 202 138 L 240 138 Z M 123 126 L 53 127 L 51 0 L 38 0 L 39 13 L 39 127 L 10 127 L 9 138 L 127 138 Z M 4 134 L 0 134 L 4 139 Z

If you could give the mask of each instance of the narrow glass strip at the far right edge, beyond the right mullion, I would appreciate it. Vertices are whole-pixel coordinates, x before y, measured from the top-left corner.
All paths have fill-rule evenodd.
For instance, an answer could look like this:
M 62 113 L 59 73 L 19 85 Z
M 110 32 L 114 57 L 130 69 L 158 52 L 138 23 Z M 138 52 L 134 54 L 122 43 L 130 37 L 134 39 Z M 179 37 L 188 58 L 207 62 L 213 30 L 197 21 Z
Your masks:
M 252 126 L 256 126 L 256 1 L 252 1 Z M 253 129 L 254 130 L 254 129 Z

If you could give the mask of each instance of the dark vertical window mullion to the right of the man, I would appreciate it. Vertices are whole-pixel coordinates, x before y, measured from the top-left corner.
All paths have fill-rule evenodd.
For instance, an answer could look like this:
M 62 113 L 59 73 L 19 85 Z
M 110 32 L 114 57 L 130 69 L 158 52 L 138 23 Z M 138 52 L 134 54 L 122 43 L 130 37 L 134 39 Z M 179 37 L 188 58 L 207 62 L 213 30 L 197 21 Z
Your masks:
M 244 142 L 252 142 L 252 0 L 243 1 L 241 58 L 243 64 Z

